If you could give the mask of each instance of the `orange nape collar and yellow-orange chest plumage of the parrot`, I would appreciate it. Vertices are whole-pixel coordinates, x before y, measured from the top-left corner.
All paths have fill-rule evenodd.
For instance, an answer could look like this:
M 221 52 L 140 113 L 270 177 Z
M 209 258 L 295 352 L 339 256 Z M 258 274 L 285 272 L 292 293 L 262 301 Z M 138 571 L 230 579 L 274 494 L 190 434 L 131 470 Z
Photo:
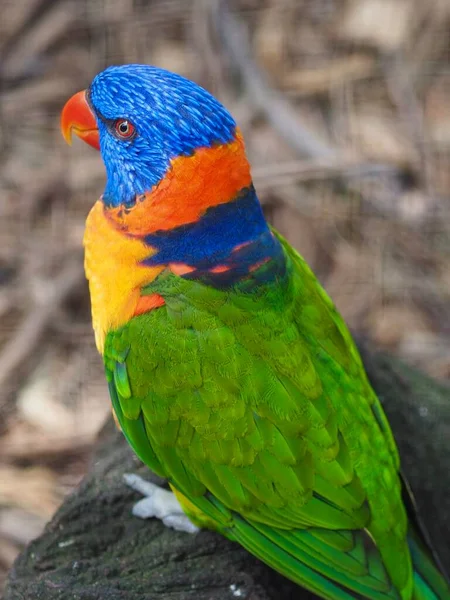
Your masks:
M 147 304 L 162 304 L 153 298 L 144 306 L 141 300 L 142 287 L 167 266 L 143 264 L 156 253 L 145 236 L 193 223 L 250 184 L 250 167 L 237 131 L 229 144 L 175 158 L 165 178 L 132 207 L 106 207 L 101 200 L 94 205 L 86 221 L 85 271 L 100 352 L 108 331 L 144 312 Z

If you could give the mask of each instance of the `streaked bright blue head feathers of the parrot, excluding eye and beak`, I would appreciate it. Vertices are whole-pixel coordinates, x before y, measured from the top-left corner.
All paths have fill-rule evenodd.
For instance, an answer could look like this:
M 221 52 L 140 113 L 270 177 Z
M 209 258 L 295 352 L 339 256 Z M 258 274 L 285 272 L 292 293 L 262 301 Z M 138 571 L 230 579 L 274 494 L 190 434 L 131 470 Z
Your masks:
M 197 148 L 230 142 L 236 123 L 209 92 L 197 84 L 148 65 L 109 67 L 89 89 L 106 167 L 103 201 L 131 204 L 167 172 L 171 159 Z M 114 122 L 129 120 L 130 140 L 114 135 Z

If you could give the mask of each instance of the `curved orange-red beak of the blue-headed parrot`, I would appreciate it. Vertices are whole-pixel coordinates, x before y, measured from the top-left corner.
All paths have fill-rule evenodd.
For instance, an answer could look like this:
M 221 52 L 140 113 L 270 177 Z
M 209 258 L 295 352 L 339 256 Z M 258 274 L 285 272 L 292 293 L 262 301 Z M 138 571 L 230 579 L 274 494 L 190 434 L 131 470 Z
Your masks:
M 68 100 L 61 113 L 61 132 L 72 144 L 72 134 L 100 150 L 97 120 L 86 99 L 86 90 L 78 92 Z

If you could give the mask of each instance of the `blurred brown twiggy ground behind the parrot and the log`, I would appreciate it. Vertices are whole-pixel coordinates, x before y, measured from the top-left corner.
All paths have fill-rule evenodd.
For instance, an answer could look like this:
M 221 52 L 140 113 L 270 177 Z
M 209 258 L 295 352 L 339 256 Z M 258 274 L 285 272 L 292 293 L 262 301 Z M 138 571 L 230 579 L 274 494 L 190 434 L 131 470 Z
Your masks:
M 0 14 L 0 590 L 110 412 L 81 249 L 103 165 L 59 132 L 108 65 L 218 96 L 270 221 L 353 332 L 448 379 L 448 0 L 0 0 Z

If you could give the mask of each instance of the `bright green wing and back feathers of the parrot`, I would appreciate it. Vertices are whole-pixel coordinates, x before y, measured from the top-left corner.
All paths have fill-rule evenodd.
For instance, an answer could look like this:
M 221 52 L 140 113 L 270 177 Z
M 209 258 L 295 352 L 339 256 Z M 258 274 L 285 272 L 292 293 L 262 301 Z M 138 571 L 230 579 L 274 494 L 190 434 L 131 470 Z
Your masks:
M 114 409 L 152 470 L 276 570 L 325 598 L 410 598 L 389 426 L 342 319 L 281 241 L 277 285 L 163 273 L 147 288 L 165 306 L 106 340 Z

